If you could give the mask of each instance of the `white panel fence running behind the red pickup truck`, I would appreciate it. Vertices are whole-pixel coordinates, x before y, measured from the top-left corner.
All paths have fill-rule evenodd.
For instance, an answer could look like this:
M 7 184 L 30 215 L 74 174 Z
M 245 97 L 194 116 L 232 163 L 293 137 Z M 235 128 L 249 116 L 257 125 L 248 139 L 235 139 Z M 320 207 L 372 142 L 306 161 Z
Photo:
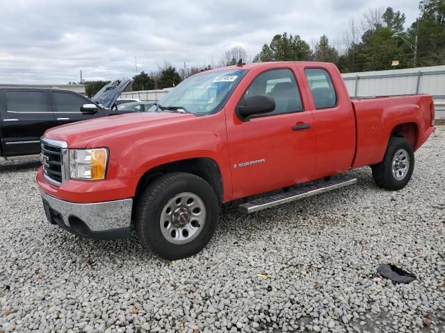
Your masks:
M 432 94 L 436 119 L 445 119 L 445 66 L 363 71 L 342 76 L 350 96 Z M 159 101 L 171 89 L 124 92 L 120 98 Z

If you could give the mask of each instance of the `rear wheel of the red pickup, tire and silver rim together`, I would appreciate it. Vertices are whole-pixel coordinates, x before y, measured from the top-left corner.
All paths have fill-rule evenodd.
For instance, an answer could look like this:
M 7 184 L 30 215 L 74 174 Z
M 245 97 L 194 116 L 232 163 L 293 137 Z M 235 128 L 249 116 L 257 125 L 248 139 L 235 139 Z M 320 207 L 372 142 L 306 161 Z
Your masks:
M 391 137 L 382 162 L 372 167 L 375 184 L 382 189 L 403 189 L 414 171 L 414 152 L 403 137 Z

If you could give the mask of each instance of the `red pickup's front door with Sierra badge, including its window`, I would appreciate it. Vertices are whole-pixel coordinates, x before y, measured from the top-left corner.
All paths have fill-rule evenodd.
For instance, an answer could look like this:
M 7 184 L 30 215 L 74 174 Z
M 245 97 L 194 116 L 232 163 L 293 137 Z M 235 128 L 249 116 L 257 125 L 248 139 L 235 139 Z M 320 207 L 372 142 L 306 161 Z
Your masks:
M 303 99 L 302 103 L 296 74 L 293 68 L 257 74 L 238 105 L 250 96 L 268 95 L 275 100 L 275 110 L 249 121 L 241 121 L 235 110 L 233 118 L 228 117 L 234 198 L 312 178 L 316 157 L 314 119 L 305 108 L 307 101 Z

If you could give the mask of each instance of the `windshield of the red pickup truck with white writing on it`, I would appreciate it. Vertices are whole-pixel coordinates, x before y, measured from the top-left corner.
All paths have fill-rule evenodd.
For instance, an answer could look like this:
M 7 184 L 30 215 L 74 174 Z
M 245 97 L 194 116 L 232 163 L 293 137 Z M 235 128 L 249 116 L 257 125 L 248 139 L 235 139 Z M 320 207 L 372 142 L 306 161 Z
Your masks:
M 153 105 L 150 111 L 216 113 L 223 107 L 245 73 L 245 69 L 231 69 L 191 76 L 166 94 L 157 105 Z

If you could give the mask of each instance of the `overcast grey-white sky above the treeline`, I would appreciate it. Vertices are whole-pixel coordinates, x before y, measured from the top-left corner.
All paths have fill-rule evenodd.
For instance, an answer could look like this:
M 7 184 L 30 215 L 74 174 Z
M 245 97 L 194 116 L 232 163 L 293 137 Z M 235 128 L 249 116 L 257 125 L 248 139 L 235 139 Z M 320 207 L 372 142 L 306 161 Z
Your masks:
M 0 83 L 113 80 L 176 67 L 218 63 L 241 45 L 255 56 L 273 35 L 287 31 L 311 44 L 341 38 L 348 21 L 385 0 L 3 0 Z M 406 26 L 419 1 L 392 0 Z

